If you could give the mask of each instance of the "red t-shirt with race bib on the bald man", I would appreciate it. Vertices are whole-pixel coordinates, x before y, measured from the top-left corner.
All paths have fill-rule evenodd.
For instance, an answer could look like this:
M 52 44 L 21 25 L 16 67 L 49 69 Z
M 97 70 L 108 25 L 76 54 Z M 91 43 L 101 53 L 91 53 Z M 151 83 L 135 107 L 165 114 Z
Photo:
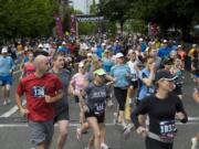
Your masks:
M 62 89 L 62 83 L 54 74 L 46 73 L 40 78 L 34 74 L 23 77 L 18 85 L 17 93 L 19 95 L 25 94 L 27 108 L 30 110 L 28 119 L 52 120 L 54 118 L 53 104 L 48 104 L 44 95 L 53 97 L 60 89 Z

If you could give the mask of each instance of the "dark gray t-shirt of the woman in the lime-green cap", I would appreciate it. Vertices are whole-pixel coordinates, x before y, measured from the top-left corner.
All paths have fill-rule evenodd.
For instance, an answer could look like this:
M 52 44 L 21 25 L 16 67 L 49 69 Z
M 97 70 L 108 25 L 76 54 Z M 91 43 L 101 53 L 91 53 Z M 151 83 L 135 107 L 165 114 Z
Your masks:
M 104 113 L 106 98 L 109 95 L 108 87 L 105 84 L 97 86 L 94 83 L 91 83 L 85 88 L 85 93 L 87 95 L 85 103 L 88 106 L 90 111 Z

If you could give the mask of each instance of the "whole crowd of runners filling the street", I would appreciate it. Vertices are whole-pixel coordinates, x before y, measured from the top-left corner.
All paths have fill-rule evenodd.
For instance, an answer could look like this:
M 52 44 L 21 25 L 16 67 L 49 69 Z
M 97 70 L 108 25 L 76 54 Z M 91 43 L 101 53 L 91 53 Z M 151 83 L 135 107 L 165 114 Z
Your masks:
M 171 149 L 176 120 L 187 123 L 182 86 L 189 71 L 199 99 L 199 46 L 187 47 L 172 40 L 142 35 L 115 39 L 84 38 L 20 40 L 2 46 L 0 85 L 2 104 L 10 104 L 12 74 L 20 66 L 15 102 L 30 127 L 36 149 L 49 149 L 54 124 L 59 125 L 56 149 L 63 149 L 69 134 L 70 104 L 80 107 L 76 138 L 92 130 L 86 149 L 108 149 L 105 140 L 106 106 L 116 99 L 113 120 L 124 137 L 136 129 L 146 138 L 146 149 Z M 22 105 L 25 95 L 27 105 Z M 191 139 L 197 149 L 199 135 Z M 65 145 L 66 146 L 66 145 Z

